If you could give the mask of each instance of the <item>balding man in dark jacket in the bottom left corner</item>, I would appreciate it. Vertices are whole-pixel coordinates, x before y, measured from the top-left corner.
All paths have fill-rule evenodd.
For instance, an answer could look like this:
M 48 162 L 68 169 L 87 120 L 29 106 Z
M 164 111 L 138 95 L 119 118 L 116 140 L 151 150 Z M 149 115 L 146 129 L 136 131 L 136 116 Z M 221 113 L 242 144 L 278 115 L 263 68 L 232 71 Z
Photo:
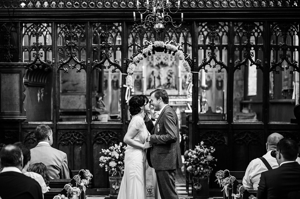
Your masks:
M 23 154 L 19 147 L 7 145 L 0 152 L 0 197 L 2 199 L 41 199 L 42 190 L 37 181 L 22 174 Z M 5 191 L 3 191 L 5 190 Z

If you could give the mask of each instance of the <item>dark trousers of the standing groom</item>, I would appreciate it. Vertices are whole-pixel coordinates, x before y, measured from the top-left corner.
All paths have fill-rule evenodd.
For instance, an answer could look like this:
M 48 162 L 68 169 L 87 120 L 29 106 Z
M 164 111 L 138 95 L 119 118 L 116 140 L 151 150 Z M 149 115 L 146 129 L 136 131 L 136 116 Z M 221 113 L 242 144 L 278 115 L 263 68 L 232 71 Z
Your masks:
M 158 188 L 162 199 L 178 199 L 175 189 L 175 169 L 155 170 Z

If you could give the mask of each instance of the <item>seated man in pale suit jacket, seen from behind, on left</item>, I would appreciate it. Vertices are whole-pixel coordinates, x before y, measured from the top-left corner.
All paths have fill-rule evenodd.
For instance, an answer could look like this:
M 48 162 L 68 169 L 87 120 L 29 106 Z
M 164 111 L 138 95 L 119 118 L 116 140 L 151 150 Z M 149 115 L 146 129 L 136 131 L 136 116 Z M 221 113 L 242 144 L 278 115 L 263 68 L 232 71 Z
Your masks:
M 67 154 L 51 147 L 53 144 L 51 128 L 48 125 L 40 125 L 34 133 L 38 144 L 30 149 L 30 164 L 44 163 L 52 179 L 70 179 Z

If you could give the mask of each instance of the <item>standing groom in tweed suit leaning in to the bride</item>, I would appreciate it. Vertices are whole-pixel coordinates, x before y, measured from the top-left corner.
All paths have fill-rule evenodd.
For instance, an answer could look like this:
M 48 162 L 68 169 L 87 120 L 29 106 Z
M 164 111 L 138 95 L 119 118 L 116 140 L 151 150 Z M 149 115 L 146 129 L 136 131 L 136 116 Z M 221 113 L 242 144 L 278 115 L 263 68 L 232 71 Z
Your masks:
M 154 111 L 158 111 L 158 119 L 148 141 L 153 145 L 148 158 L 156 172 L 158 188 L 162 199 L 178 199 L 175 190 L 175 170 L 182 167 L 179 145 L 178 117 L 168 105 L 167 91 L 156 89 L 150 93 Z

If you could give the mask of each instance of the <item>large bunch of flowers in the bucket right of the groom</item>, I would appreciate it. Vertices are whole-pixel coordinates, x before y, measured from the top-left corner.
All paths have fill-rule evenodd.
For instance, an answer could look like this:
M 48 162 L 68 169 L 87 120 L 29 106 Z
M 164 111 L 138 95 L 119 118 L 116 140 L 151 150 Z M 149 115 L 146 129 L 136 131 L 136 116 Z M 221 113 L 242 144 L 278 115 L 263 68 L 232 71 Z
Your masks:
M 189 149 L 184 152 L 187 172 L 193 174 L 196 178 L 209 178 L 212 173 L 212 167 L 216 166 L 216 161 L 212 155 L 215 152 L 214 147 L 204 146 L 202 141 L 200 145 L 196 145 L 195 149 Z

